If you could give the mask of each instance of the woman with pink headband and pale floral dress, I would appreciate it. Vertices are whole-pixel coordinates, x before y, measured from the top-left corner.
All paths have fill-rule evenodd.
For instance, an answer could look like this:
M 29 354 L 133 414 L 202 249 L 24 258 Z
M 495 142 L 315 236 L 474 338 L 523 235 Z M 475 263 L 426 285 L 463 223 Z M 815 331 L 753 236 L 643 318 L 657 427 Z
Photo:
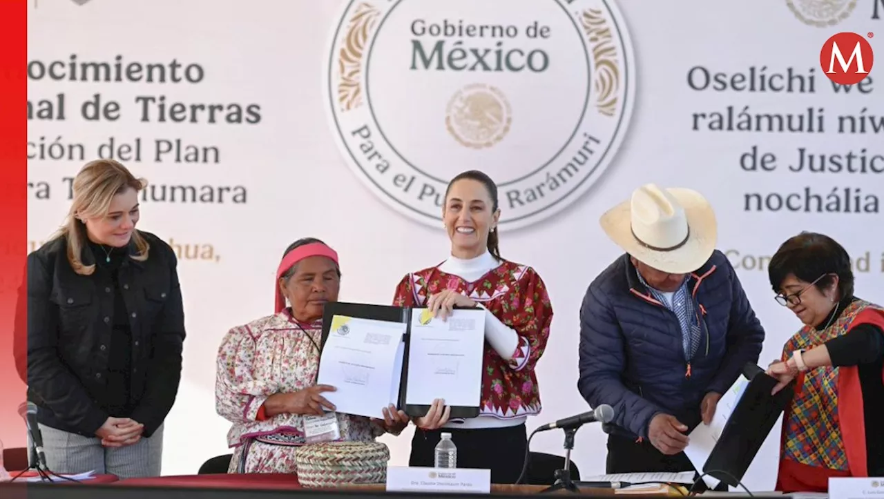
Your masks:
M 385 420 L 325 412 L 334 405 L 323 393 L 334 388 L 316 385 L 316 375 L 323 306 L 338 299 L 338 254 L 318 239 L 301 239 L 286 249 L 277 278 L 276 314 L 231 329 L 218 349 L 215 404 L 233 424 L 229 473 L 296 473 L 299 445 L 370 442 L 408 426 L 405 412 L 392 406 L 384 408 Z M 324 417 L 336 420 L 338 435 L 305 434 L 305 420 Z

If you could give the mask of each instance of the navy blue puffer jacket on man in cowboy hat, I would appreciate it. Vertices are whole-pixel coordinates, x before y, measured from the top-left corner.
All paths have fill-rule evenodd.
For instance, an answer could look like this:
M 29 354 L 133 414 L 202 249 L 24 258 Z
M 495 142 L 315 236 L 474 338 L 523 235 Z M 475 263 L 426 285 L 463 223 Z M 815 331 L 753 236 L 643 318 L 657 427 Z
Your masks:
M 586 291 L 577 387 L 591 407 L 613 407 L 612 434 L 646 438 L 661 412 L 693 429 L 705 394 L 724 393 L 747 362 L 758 363 L 765 332 L 724 253 L 714 252 L 689 278 L 704 323 L 692 359 L 685 359 L 675 314 L 652 299 L 629 255 Z

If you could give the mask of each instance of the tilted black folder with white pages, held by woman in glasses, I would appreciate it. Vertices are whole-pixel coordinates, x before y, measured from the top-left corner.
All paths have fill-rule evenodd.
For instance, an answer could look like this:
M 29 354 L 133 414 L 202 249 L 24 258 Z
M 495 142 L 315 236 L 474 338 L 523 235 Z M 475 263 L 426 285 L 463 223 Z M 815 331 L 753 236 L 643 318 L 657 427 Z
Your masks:
M 771 395 L 776 380 L 761 367 L 747 364 L 727 393 L 722 394 L 715 416 L 707 426 L 700 423 L 690 432 L 684 453 L 703 474 L 710 488 L 720 482 L 737 487 L 758 450 L 770 435 L 795 393 L 794 383 Z

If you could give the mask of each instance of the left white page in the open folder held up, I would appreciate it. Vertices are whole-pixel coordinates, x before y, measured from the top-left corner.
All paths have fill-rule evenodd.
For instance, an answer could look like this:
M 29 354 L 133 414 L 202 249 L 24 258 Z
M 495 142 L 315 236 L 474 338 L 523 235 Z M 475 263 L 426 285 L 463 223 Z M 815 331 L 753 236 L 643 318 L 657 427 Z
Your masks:
M 327 384 L 337 391 L 323 397 L 337 407 L 336 412 L 384 419 L 381 412 L 396 403 L 393 393 L 400 384 L 395 370 L 401 354 L 406 324 L 372 321 L 336 315 L 319 360 L 317 384 Z M 396 390 L 395 392 L 393 390 Z

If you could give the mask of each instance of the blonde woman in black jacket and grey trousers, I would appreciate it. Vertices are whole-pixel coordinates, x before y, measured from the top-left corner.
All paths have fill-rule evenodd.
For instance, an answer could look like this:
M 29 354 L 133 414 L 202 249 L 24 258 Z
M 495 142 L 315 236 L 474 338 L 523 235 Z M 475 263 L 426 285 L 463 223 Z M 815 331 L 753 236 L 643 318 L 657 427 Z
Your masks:
M 54 473 L 160 474 L 185 329 L 175 253 L 135 229 L 144 185 L 88 163 L 65 224 L 27 257 L 28 398 Z

